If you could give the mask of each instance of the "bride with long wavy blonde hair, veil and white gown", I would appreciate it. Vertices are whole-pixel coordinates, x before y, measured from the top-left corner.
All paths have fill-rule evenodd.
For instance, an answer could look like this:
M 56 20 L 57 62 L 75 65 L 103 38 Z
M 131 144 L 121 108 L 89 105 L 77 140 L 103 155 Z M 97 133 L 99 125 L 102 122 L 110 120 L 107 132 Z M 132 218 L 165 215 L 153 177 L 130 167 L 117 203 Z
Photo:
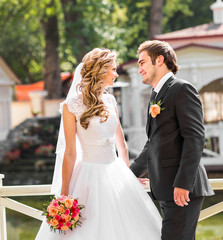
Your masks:
M 161 239 L 161 216 L 128 168 L 116 101 L 105 91 L 118 77 L 115 61 L 108 49 L 87 53 L 60 108 L 52 193 L 78 198 L 85 220 L 59 234 L 44 219 L 36 240 Z

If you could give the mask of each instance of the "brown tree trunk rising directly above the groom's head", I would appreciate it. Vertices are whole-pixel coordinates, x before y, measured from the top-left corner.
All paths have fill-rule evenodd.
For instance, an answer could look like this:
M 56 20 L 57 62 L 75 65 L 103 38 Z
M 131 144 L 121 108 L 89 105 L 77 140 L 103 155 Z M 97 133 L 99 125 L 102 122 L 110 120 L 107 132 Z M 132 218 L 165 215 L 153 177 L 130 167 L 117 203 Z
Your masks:
M 155 35 L 162 33 L 163 20 L 163 0 L 151 0 L 150 14 L 149 14 L 149 38 L 153 39 Z

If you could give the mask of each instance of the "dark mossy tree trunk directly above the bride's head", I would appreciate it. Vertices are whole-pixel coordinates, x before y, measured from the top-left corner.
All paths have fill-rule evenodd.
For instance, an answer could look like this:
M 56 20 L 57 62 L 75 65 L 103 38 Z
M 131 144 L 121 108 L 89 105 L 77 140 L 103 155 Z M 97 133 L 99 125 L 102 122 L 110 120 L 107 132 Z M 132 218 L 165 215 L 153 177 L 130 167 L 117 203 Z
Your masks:
M 65 20 L 66 39 L 73 47 L 73 55 L 80 62 L 87 51 L 88 39 L 82 34 L 83 14 L 76 0 L 61 0 Z

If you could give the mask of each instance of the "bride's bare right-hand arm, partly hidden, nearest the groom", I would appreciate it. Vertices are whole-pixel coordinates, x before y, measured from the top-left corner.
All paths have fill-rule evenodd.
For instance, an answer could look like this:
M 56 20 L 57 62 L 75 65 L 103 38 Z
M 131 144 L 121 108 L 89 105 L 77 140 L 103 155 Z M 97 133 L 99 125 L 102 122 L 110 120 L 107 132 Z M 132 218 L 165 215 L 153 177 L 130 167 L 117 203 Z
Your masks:
M 127 164 L 127 166 L 129 167 L 129 154 L 128 154 L 128 147 L 124 138 L 124 134 L 122 131 L 122 127 L 119 121 L 119 116 L 118 116 L 118 111 L 116 109 L 116 113 L 117 113 L 117 118 L 118 118 L 118 127 L 115 133 L 115 143 L 117 146 L 117 150 L 118 150 L 118 156 L 121 157 L 122 159 L 124 159 L 125 163 Z

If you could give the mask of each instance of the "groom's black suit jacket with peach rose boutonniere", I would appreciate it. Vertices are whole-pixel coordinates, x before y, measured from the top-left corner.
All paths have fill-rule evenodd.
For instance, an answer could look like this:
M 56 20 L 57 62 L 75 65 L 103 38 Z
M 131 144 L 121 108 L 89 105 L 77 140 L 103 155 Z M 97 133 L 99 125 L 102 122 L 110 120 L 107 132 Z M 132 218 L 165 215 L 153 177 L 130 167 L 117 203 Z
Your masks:
M 205 136 L 196 89 L 172 76 L 158 93 L 155 101 L 159 100 L 165 109 L 156 118 L 148 113 L 148 140 L 130 169 L 137 177 L 148 169 L 151 191 L 157 200 L 173 200 L 174 187 L 189 190 L 190 197 L 213 195 L 200 162 Z

